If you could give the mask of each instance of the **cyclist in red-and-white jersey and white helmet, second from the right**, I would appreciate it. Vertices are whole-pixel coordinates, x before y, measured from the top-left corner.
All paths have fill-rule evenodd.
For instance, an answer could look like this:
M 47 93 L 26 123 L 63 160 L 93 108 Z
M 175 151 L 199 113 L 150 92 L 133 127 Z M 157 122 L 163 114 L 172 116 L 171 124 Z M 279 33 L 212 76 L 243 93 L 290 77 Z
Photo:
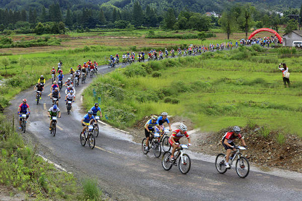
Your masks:
M 172 135 L 169 138 L 169 143 L 170 145 L 173 147 L 172 149 L 172 154 L 171 154 L 171 161 L 174 160 L 174 153 L 176 148 L 179 147 L 179 139 L 181 139 L 182 137 L 186 136 L 186 138 L 188 139 L 188 146 L 191 146 L 191 139 L 190 136 L 187 133 L 187 126 L 185 124 L 180 124 L 179 129 L 174 130 Z

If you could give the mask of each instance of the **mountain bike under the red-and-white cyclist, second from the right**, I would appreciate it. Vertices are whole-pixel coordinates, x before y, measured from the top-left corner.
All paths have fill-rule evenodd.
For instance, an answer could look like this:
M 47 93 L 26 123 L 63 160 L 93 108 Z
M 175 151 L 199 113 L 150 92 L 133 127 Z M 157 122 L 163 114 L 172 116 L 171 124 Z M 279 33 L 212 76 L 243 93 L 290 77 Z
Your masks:
M 162 158 L 163 168 L 168 171 L 172 168 L 173 165 L 178 165 L 179 171 L 183 174 L 187 174 L 191 168 L 191 159 L 189 155 L 184 153 L 184 149 L 188 149 L 188 145 L 179 145 L 179 147 L 175 151 L 175 153 L 177 152 L 177 154 L 173 161 L 171 161 L 171 152 L 165 152 Z

